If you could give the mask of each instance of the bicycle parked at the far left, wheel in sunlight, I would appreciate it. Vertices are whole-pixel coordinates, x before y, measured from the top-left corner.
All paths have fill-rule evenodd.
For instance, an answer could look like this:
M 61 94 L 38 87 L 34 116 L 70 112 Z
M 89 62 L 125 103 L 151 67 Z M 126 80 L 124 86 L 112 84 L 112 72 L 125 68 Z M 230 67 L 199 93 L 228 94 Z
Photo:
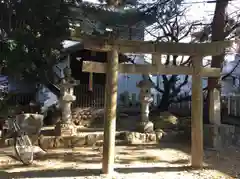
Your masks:
M 24 132 L 16 118 L 8 117 L 5 121 L 4 138 L 12 138 L 17 158 L 25 165 L 33 163 L 33 145 L 26 132 Z

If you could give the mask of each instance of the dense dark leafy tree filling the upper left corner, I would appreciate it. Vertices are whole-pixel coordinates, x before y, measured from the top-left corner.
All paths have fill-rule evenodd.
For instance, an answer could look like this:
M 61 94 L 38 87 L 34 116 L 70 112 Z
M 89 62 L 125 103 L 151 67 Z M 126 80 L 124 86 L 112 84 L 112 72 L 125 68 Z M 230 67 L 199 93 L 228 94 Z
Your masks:
M 0 2 L 0 64 L 8 76 L 44 80 L 69 37 L 64 0 Z

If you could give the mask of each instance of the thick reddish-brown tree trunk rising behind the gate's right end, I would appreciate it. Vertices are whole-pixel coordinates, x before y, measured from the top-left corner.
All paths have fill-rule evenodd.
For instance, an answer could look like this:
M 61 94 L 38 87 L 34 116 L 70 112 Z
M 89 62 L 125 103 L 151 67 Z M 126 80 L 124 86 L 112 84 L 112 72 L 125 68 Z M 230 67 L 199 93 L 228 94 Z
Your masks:
M 224 28 L 225 28 L 225 14 L 226 7 L 228 5 L 229 0 L 217 0 L 216 7 L 212 22 L 212 41 L 223 41 L 225 39 Z M 211 61 L 211 67 L 221 68 L 222 62 L 224 61 L 224 54 L 213 56 Z M 209 91 L 214 88 L 219 87 L 219 78 L 211 78 L 208 80 L 208 95 L 207 95 L 207 105 L 205 105 L 205 110 L 207 111 L 207 119 L 205 119 L 205 123 L 209 123 L 209 110 L 208 106 L 210 106 L 209 101 Z M 207 107 L 207 109 L 206 109 Z

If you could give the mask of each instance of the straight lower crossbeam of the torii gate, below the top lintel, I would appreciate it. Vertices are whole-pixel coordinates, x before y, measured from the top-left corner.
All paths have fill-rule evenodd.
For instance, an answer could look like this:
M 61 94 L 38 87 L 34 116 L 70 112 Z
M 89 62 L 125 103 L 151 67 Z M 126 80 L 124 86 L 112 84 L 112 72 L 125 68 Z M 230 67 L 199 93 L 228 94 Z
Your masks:
M 201 61 L 201 60 L 200 60 Z M 163 66 L 163 65 L 147 65 L 147 64 L 119 64 L 119 73 L 129 74 L 164 74 L 164 75 L 192 75 L 193 68 L 186 66 Z M 106 73 L 107 64 L 100 62 L 84 61 L 82 66 L 83 72 Z M 219 68 L 202 68 L 202 76 L 218 77 L 221 70 Z

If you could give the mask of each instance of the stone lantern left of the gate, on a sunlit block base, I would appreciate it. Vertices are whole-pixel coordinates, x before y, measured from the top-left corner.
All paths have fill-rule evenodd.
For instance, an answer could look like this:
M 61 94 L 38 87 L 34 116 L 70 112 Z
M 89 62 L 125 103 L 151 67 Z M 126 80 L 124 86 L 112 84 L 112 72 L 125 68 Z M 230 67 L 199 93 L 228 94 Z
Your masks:
M 71 69 L 64 69 L 64 78 L 60 83 L 60 109 L 61 121 L 56 125 L 56 132 L 59 135 L 72 136 L 76 135 L 76 126 L 72 122 L 71 105 L 76 100 L 73 94 L 73 87 L 78 84 L 78 81 L 71 76 Z

